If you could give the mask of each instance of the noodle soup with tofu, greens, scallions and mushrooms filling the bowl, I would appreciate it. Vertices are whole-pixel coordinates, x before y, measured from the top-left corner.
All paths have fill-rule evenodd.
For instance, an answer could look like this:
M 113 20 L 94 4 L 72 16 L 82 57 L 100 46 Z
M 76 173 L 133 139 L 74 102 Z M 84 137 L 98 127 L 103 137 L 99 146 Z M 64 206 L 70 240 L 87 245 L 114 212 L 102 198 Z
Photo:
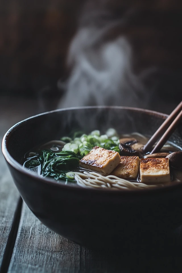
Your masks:
M 182 181 L 182 151 L 167 142 L 156 154 L 143 153 L 148 137 L 118 135 L 113 128 L 101 135 L 75 132 L 27 152 L 23 167 L 57 182 L 81 187 L 138 190 Z

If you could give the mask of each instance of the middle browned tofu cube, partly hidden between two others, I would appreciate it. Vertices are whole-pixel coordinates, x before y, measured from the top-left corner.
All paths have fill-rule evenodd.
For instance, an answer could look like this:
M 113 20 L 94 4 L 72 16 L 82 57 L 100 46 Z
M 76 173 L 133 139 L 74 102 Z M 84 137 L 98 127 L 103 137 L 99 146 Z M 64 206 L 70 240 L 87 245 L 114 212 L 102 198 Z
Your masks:
M 112 171 L 111 175 L 123 179 L 136 179 L 140 167 L 140 159 L 138 156 L 121 156 L 121 162 Z

